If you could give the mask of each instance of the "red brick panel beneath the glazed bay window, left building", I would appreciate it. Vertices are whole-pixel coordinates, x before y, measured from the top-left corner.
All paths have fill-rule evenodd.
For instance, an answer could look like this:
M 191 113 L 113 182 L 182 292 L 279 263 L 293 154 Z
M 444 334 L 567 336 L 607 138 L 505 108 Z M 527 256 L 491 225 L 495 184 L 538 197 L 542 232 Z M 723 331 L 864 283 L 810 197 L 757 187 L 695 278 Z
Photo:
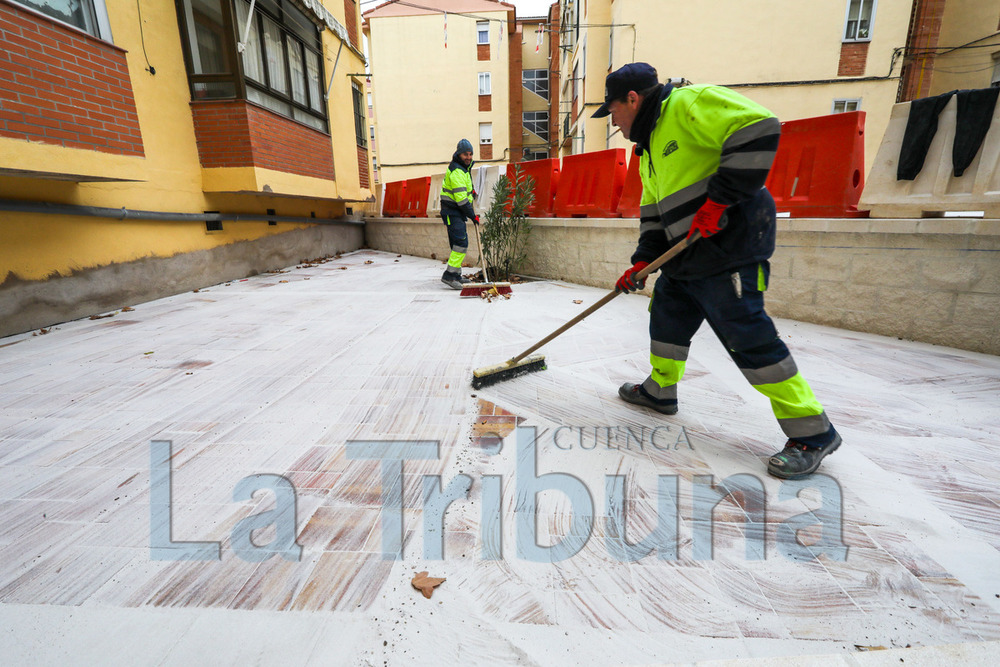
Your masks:
M 201 165 L 261 167 L 333 180 L 330 135 L 244 100 L 192 102 Z

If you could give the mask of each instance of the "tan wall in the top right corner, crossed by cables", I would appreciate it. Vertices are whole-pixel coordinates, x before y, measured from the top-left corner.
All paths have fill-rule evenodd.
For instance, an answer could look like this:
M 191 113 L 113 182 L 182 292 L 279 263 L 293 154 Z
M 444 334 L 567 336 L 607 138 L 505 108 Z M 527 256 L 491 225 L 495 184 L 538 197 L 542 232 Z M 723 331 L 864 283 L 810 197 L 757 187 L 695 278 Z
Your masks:
M 939 48 L 964 47 L 947 52 L 934 62 L 929 95 L 949 90 L 987 88 L 1000 57 L 1000 3 L 984 0 L 949 0 L 941 17 Z M 993 46 L 988 46 L 992 44 Z

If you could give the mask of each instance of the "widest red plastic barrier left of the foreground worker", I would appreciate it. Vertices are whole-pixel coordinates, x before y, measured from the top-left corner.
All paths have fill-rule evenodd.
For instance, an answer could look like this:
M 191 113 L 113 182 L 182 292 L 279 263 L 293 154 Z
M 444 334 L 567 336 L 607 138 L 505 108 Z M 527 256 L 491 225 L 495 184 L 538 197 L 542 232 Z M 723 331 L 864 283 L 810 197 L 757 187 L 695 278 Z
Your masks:
M 617 218 L 625 186 L 625 149 L 612 148 L 563 158 L 555 214 L 560 218 Z

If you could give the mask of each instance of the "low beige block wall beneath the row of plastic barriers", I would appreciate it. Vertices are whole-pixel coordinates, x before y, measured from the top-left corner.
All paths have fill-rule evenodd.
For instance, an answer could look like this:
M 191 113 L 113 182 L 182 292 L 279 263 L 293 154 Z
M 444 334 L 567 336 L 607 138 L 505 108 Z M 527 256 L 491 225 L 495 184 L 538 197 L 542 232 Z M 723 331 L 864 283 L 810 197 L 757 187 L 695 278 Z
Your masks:
M 638 224 L 532 220 L 523 273 L 610 288 Z M 365 234 L 379 250 L 448 255 L 437 219 L 371 219 Z M 772 315 L 1000 354 L 1000 220 L 781 219 L 777 245 Z M 469 264 L 477 258 L 473 234 Z

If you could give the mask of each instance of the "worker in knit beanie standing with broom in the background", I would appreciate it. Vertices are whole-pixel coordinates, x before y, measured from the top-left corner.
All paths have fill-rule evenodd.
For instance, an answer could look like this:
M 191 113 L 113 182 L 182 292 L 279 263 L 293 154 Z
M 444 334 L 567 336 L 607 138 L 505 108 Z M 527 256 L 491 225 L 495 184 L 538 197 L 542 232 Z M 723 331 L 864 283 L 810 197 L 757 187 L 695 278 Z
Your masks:
M 451 156 L 448 173 L 441 186 L 441 219 L 448 227 L 448 243 L 451 255 L 448 266 L 441 276 L 441 282 L 452 289 L 462 289 L 464 283 L 471 282 L 462 277 L 462 261 L 469 249 L 469 236 L 465 221 L 479 224 L 479 216 L 472 208 L 475 191 L 472 188 L 472 143 L 468 139 L 458 142 L 455 154 Z

